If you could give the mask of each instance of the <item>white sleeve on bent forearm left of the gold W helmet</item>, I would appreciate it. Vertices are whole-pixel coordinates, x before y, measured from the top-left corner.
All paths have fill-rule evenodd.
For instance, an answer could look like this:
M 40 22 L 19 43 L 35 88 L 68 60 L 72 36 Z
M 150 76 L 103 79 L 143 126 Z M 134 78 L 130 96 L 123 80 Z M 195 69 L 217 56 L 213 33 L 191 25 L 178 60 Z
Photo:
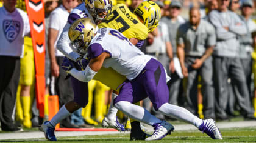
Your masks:
M 59 41 L 57 42 L 57 49 L 69 59 L 76 61 L 76 59 L 79 58 L 79 54 L 77 54 L 76 52 L 73 52 L 73 50 L 69 46 L 70 44 L 70 40 L 68 38 L 69 27 L 70 27 L 70 24 L 67 23 L 63 28 L 62 34 L 60 35 Z

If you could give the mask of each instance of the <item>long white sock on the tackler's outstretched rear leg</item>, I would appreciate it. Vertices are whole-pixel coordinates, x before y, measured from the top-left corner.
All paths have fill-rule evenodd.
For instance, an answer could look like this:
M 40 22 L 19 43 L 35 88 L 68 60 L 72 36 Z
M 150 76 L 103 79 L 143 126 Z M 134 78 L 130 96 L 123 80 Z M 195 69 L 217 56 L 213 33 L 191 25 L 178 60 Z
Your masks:
M 190 111 L 183 107 L 177 105 L 171 105 L 169 103 L 163 104 L 158 108 L 162 114 L 171 116 L 172 118 L 180 119 L 190 124 L 195 125 L 197 128 L 202 124 L 202 119 L 199 119 L 197 116 L 194 116 Z

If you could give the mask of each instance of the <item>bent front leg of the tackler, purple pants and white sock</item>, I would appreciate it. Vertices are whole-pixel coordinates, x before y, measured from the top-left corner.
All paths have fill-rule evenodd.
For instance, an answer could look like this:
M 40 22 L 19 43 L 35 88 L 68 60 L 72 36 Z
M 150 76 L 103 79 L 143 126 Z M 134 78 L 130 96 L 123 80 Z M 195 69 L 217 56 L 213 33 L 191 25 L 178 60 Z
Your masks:
M 138 79 L 140 81 L 140 79 Z M 147 110 L 138 105 L 132 104 L 132 102 L 138 102 L 146 98 L 147 94 L 141 84 L 137 82 L 125 82 L 120 90 L 119 95 L 114 99 L 114 105 L 118 110 L 137 121 L 144 122 L 152 125 L 155 132 L 152 136 L 154 139 L 162 139 L 172 130 L 174 127 L 166 121 L 161 121 L 155 116 L 151 115 Z

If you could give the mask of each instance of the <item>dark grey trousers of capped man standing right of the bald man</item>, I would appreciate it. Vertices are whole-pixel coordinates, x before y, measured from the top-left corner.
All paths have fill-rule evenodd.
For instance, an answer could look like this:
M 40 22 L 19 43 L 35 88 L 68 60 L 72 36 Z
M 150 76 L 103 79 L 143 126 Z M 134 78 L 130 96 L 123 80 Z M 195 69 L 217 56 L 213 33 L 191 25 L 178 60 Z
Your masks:
M 237 89 L 236 99 L 244 118 L 252 117 L 249 101 L 249 91 L 246 86 L 243 67 L 240 58 L 215 57 L 214 59 L 216 79 L 216 115 L 221 120 L 228 119 L 226 107 L 228 101 L 227 79 L 230 76 L 234 88 Z

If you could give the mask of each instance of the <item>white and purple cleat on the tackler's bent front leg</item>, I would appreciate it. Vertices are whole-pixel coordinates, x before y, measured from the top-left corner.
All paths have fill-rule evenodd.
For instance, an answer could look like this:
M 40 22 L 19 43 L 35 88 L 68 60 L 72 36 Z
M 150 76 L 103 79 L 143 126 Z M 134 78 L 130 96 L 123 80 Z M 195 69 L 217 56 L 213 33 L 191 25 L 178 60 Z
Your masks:
M 171 131 L 174 130 L 174 127 L 166 121 L 155 123 L 153 127 L 155 131 L 152 134 L 152 136 L 145 139 L 146 141 L 160 140 L 164 138 L 166 135 L 171 134 Z

